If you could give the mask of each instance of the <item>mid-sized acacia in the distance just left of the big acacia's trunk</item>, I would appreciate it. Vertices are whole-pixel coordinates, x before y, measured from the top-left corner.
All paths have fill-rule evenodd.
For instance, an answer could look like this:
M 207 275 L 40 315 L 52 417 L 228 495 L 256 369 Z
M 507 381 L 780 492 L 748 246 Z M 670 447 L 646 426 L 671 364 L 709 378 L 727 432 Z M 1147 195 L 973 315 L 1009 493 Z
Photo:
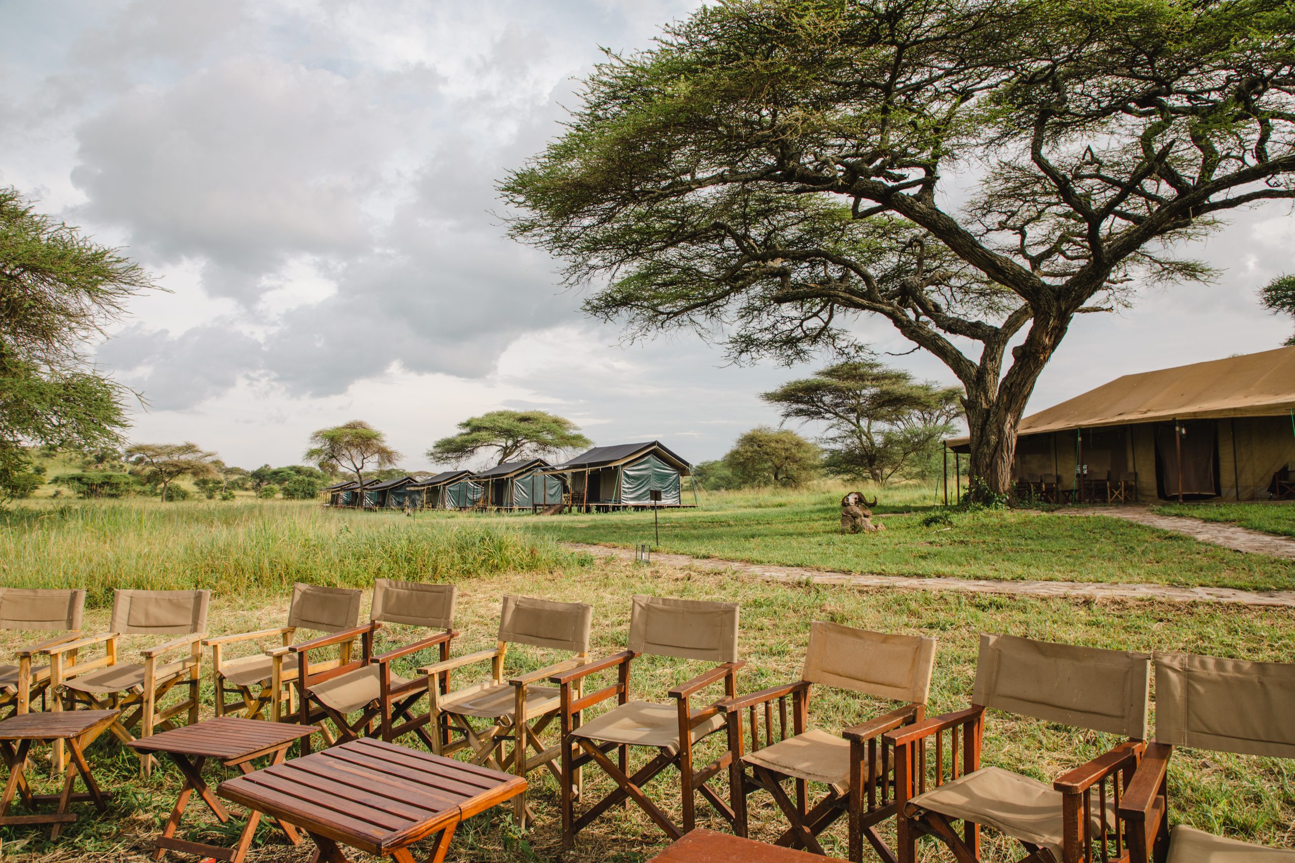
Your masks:
M 962 413 L 958 395 L 956 387 L 914 380 L 901 369 L 851 360 L 760 399 L 777 405 L 783 419 L 828 426 L 820 439 L 825 468 L 883 484 L 922 462 L 953 431 L 952 421 Z

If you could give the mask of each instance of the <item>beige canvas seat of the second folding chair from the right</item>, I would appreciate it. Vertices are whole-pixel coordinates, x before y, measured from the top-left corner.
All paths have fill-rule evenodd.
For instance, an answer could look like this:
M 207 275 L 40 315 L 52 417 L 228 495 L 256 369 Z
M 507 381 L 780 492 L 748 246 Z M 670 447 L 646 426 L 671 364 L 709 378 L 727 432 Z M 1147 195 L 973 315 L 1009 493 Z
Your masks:
M 1046 847 L 1062 858 L 1062 793 L 1037 779 L 1002 767 L 982 767 L 913 797 L 910 806 L 993 827 L 1000 833 Z M 1115 807 L 1106 801 L 1106 823 L 1116 824 Z M 1094 809 L 1092 828 L 1098 829 Z

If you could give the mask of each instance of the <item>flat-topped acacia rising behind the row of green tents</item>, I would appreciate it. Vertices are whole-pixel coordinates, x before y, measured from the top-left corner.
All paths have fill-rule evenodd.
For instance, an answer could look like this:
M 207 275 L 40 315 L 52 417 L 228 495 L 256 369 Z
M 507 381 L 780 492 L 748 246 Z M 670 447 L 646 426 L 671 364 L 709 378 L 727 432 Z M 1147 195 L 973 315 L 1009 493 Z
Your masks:
M 495 463 L 502 464 L 593 445 L 574 422 L 543 410 L 492 410 L 465 419 L 458 428 L 457 435 L 438 440 L 427 458 L 461 464 L 479 453 L 493 453 Z

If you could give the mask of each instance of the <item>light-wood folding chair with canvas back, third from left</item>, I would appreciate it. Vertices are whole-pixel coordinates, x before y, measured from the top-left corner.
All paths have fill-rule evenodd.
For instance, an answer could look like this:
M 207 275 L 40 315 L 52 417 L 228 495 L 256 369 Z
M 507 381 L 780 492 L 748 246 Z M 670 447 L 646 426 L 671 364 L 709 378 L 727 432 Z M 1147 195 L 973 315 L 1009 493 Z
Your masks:
M 215 669 L 216 716 L 229 716 L 231 713 L 237 716 L 241 710 L 247 719 L 259 719 L 265 708 L 269 708 L 272 722 L 280 722 L 284 717 L 295 719 L 297 710 L 293 705 L 290 684 L 297 679 L 297 664 L 291 661 L 286 648 L 293 644 L 297 630 L 332 634 L 354 629 L 360 622 L 363 595 L 363 590 L 350 587 L 324 587 L 297 582 L 293 585 L 293 599 L 287 606 L 286 626 L 203 640 L 202 643 L 211 648 L 211 665 Z M 282 644 L 272 650 L 233 659 L 225 656 L 225 648 L 231 644 L 260 642 L 276 637 L 282 640 Z M 354 638 L 341 643 L 338 659 L 333 660 L 332 668 L 351 661 L 354 643 Z M 289 660 L 286 665 L 285 657 Z M 316 668 L 326 670 L 329 665 L 321 660 Z M 227 694 L 231 691 L 237 692 L 241 700 L 227 701 Z M 287 709 L 284 709 L 285 700 Z

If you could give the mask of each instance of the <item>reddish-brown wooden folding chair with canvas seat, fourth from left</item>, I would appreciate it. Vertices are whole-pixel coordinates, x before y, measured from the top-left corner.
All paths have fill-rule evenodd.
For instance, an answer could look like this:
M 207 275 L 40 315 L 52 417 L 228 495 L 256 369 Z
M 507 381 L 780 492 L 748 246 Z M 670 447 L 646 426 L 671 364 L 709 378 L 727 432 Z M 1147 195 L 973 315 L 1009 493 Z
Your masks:
M 400 677 L 391 670 L 391 662 L 431 647 L 440 650 L 442 660 L 449 657 L 449 642 L 458 634 L 453 631 L 455 596 L 453 585 L 378 578 L 373 582 L 373 608 L 368 624 L 290 647 L 297 655 L 300 695 L 297 721 L 302 725 L 317 723 L 329 745 L 374 736 L 391 743 L 416 734 L 427 747 L 434 747 L 442 735 L 429 735 L 425 730 L 433 722 L 431 710 L 413 713 L 427 694 L 427 679 L 421 674 L 412 679 Z M 442 631 L 376 655 L 376 635 L 387 624 Z M 360 659 L 322 670 L 308 659 L 311 651 L 355 638 L 360 639 Z M 351 714 L 359 716 L 352 719 Z M 302 741 L 302 750 L 303 754 L 310 753 L 310 737 Z

